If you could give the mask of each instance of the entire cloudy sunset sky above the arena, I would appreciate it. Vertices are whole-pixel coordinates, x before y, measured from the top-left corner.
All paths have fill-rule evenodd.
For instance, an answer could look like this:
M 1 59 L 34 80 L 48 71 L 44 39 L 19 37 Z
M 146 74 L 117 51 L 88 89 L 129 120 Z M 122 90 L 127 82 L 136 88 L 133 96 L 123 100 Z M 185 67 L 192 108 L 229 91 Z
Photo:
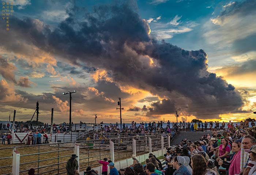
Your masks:
M 9 3 L 9 4 L 7 4 Z M 256 114 L 256 0 L 1 1 L 0 120 Z M 9 9 L 9 12 L 7 11 Z M 10 10 L 13 10 L 12 12 Z M 7 13 L 10 13 L 7 16 Z M 9 18 L 8 18 L 9 17 Z

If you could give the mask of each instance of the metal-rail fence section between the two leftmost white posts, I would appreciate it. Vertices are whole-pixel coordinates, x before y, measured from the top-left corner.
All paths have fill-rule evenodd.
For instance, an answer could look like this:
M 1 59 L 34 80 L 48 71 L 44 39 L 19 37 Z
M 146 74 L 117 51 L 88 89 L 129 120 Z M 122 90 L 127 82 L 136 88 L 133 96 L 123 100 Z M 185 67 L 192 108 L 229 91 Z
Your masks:
M 74 153 L 74 143 L 55 143 L 15 147 L 20 153 L 20 175 L 26 175 L 30 168 L 35 174 L 66 173 L 67 160 Z

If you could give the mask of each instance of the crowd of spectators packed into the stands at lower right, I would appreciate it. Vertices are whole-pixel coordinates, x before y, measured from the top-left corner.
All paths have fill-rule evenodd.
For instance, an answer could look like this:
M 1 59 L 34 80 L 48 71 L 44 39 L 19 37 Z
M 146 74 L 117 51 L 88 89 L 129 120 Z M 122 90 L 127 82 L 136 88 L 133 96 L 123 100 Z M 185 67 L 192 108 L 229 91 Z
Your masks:
M 133 155 L 133 164 L 119 171 L 114 167 L 114 162 L 107 163 L 106 158 L 99 163 L 105 164 L 104 170 L 102 169 L 104 174 L 107 173 L 106 165 L 110 167 L 109 175 L 256 175 L 255 125 L 248 127 L 247 122 L 241 122 L 238 126 L 232 123 L 228 125 L 230 127 L 224 129 L 222 123 L 222 132 L 218 127 L 212 128 L 214 131 L 211 135 L 203 135 L 194 142 L 185 138 L 175 147 L 166 148 L 164 160 L 159 160 L 150 154 L 144 163 L 139 163 Z M 135 126 L 134 124 L 134 127 L 128 130 L 147 131 L 149 129 L 141 124 L 138 127 Z M 118 129 L 113 125 L 104 128 Z M 163 131 L 166 132 L 167 128 L 163 128 Z M 160 131 L 161 129 L 160 125 Z M 177 129 L 183 128 L 177 127 Z M 84 172 L 85 175 L 91 175 L 91 167 L 88 170 Z M 92 175 L 97 173 L 94 171 Z

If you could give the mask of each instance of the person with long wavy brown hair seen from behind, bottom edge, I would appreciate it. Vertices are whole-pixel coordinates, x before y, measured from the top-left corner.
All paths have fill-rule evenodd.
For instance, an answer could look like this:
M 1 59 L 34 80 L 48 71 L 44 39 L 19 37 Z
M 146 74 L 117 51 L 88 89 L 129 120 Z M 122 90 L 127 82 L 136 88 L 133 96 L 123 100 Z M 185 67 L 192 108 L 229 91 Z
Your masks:
M 217 175 L 215 171 L 208 169 L 206 159 L 200 154 L 191 158 L 192 175 Z

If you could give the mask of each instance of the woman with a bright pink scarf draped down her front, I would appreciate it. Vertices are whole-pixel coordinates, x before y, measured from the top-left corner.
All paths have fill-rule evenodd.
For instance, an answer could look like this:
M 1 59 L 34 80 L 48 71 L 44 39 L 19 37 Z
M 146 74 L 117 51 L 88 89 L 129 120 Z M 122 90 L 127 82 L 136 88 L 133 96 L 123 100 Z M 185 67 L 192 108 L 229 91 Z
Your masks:
M 234 152 L 234 156 L 231 158 L 230 162 L 223 161 L 219 159 L 219 165 L 226 168 L 229 171 L 229 175 L 239 174 L 240 173 L 240 155 L 241 148 L 240 143 L 235 141 L 232 144 L 232 152 Z

